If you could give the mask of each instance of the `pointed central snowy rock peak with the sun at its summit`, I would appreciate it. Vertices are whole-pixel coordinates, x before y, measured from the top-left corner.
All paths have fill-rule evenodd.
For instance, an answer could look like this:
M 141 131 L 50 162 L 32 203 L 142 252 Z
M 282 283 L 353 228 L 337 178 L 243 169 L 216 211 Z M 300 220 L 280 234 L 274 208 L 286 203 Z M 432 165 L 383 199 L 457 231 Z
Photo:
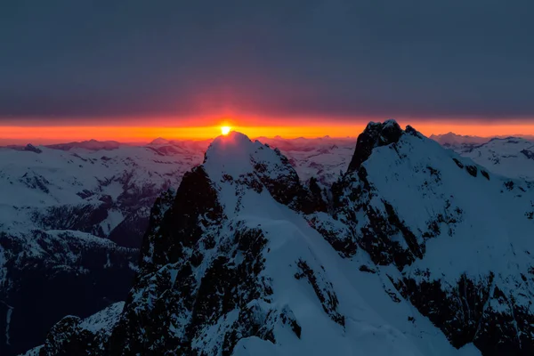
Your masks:
M 217 138 L 176 197 L 153 207 L 139 276 L 101 354 L 480 354 L 455 349 L 401 296 L 394 267 L 336 250 L 318 225 L 344 223 L 327 211 L 279 151 Z M 94 341 L 71 339 L 77 350 Z

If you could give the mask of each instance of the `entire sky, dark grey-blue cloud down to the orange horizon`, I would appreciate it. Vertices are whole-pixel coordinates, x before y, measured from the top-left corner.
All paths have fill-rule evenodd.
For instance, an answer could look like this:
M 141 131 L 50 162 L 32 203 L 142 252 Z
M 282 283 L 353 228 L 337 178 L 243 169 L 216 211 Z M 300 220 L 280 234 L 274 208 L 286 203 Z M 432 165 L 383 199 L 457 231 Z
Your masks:
M 0 138 L 201 138 L 223 122 L 356 136 L 389 117 L 424 134 L 534 134 L 533 12 L 530 0 L 7 0 Z

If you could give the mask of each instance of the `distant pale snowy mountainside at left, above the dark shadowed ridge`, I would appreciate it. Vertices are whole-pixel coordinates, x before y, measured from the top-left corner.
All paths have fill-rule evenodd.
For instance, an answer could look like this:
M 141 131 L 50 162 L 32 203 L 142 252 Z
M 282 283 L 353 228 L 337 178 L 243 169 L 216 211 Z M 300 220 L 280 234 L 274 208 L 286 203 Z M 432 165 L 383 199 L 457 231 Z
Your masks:
M 0 149 L 0 231 L 77 230 L 138 247 L 150 206 L 201 162 L 201 150 Z

